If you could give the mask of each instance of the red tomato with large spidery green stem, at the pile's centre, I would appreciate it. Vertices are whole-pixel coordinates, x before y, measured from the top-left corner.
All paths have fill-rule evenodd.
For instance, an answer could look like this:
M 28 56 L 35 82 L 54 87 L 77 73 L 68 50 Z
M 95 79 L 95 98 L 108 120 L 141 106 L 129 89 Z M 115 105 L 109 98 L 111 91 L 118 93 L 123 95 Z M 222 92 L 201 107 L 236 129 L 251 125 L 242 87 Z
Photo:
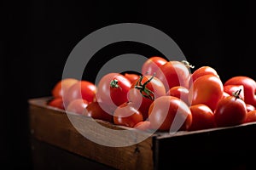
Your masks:
M 143 120 L 146 120 L 151 103 L 163 95 L 166 95 L 166 88 L 157 77 L 142 76 L 131 84 L 128 99 L 143 113 Z

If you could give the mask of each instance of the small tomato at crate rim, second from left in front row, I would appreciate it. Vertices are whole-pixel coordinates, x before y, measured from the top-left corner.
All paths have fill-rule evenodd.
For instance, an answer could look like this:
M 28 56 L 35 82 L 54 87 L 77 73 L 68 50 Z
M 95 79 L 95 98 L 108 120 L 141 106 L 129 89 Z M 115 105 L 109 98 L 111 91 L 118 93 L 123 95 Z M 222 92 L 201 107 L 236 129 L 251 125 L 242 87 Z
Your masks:
M 67 105 L 66 111 L 83 114 L 87 105 L 88 105 L 88 101 L 85 99 L 73 99 Z

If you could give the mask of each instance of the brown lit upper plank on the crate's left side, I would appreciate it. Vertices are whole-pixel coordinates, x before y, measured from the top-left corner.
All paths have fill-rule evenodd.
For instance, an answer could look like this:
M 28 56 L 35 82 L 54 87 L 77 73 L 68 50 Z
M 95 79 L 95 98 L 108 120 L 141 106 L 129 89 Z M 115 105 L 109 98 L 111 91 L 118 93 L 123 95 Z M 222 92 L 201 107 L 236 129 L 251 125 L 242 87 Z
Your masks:
M 86 139 L 78 132 L 77 128 L 73 127 L 70 122 L 70 115 L 67 116 L 65 111 L 45 105 L 46 100 L 43 98 L 29 101 L 31 131 L 32 136 L 36 139 L 117 169 L 154 168 L 152 138 L 125 147 L 109 147 L 96 144 Z M 91 120 L 85 116 L 73 114 L 71 117 L 73 120 L 79 120 L 84 126 L 92 128 L 94 126 Z M 113 126 L 109 123 L 100 123 L 106 127 L 122 130 L 121 127 Z M 95 130 L 95 135 L 98 138 L 101 138 L 106 133 L 101 129 L 93 130 Z M 108 135 L 111 134 L 109 133 Z M 113 139 L 117 138 L 119 136 L 113 136 Z M 125 136 L 119 138 L 119 140 L 125 142 L 127 138 L 131 138 L 131 136 Z M 133 138 L 143 138 L 143 133 L 134 133 Z

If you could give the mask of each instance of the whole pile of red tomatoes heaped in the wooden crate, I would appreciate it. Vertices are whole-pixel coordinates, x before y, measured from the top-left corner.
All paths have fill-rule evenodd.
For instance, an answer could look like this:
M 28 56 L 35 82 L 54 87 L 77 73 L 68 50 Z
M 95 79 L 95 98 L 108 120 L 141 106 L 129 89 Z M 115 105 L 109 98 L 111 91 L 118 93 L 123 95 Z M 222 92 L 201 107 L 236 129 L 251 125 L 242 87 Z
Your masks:
M 62 79 L 48 105 L 140 130 L 194 131 L 256 122 L 255 90 L 252 77 L 223 82 L 211 66 L 152 56 L 141 73 Z

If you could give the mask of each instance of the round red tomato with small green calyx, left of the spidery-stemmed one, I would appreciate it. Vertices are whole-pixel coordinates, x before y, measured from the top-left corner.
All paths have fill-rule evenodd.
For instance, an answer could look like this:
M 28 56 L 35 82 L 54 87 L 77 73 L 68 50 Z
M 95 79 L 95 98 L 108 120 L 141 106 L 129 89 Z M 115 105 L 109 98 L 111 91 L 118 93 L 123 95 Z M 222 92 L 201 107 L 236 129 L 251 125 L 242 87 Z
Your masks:
M 128 101 L 130 88 L 131 82 L 124 75 L 108 73 L 97 84 L 96 100 L 117 107 Z

